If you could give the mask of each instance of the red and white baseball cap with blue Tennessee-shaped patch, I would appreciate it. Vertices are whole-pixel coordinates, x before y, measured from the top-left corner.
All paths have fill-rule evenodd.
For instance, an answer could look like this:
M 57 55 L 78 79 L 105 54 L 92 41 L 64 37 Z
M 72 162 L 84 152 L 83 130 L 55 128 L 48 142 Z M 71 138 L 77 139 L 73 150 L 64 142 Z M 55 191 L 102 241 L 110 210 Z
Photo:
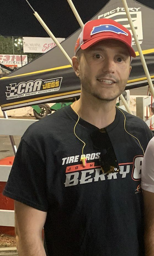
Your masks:
M 112 19 L 95 19 L 88 21 L 82 29 L 75 45 L 75 55 L 82 50 L 106 39 L 115 39 L 123 42 L 128 47 L 130 56 L 136 57 L 132 47 L 132 36 L 130 31 L 120 23 Z

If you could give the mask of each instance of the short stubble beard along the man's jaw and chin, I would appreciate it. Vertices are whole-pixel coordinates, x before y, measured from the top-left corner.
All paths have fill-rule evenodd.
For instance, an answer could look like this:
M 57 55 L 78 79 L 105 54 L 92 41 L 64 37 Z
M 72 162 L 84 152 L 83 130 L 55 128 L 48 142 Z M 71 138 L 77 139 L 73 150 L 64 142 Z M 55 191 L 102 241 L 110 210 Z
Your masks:
M 101 100 L 101 101 L 114 101 L 125 90 L 125 88 L 121 89 L 121 90 L 119 89 L 119 92 L 114 97 L 106 98 L 106 97 L 101 96 L 98 92 L 91 91 L 91 88 L 92 88 L 91 81 L 86 76 L 84 76 L 84 77 L 80 76 L 80 81 L 81 81 L 82 89 L 84 91 L 86 91 L 88 94 L 92 95 L 93 97 L 95 97 L 96 99 Z

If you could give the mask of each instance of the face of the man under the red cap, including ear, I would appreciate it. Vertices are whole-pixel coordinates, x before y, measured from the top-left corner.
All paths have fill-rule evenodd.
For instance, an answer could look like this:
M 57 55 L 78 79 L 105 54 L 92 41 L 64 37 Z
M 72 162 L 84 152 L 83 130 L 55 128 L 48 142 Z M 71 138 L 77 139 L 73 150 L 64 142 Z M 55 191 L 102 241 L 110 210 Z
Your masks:
M 86 50 L 73 66 L 86 91 L 99 100 L 115 100 L 125 89 L 131 66 L 127 46 L 118 40 L 104 40 Z

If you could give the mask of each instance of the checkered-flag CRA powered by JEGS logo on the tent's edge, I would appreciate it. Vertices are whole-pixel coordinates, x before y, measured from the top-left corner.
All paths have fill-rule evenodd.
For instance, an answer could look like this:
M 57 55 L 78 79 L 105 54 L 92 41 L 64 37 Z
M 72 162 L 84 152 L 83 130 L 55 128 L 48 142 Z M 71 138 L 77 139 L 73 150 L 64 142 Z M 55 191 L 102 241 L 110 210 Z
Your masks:
M 31 95 L 59 91 L 63 77 L 57 77 L 47 80 L 37 79 L 28 82 L 10 83 L 6 86 L 6 100 L 16 99 Z

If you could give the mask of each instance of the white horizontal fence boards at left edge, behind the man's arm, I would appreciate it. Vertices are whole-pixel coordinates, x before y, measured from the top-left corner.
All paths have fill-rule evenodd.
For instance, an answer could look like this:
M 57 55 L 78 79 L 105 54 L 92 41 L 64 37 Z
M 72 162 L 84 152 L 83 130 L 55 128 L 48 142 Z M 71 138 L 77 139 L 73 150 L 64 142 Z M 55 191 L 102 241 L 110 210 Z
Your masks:
M 0 135 L 22 136 L 37 120 L 0 118 Z M 11 165 L 0 165 L 0 182 L 7 182 Z M 0 209 L 0 226 L 14 227 L 14 210 Z

